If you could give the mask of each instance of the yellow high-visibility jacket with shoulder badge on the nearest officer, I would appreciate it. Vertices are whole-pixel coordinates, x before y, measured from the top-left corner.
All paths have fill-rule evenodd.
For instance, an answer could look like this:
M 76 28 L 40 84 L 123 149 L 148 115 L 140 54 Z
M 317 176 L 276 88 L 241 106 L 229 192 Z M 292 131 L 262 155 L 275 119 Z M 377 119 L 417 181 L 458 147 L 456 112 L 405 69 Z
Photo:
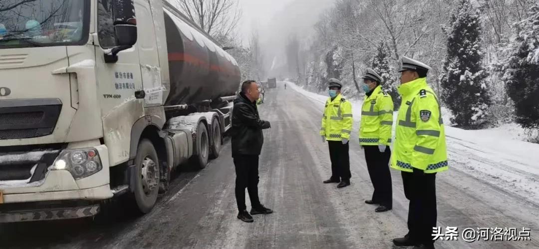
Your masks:
M 434 173 L 448 169 L 444 122 L 438 98 L 419 78 L 400 85 L 402 105 L 395 129 L 391 167 L 412 172 L 412 167 Z

